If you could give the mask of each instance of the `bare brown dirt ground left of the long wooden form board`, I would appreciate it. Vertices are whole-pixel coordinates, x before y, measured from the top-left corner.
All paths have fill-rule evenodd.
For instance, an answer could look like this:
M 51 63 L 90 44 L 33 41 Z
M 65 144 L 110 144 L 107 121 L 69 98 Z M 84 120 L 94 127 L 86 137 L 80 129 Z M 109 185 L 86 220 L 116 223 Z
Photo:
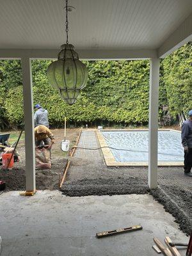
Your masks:
M 51 170 L 36 170 L 36 189 L 59 189 L 60 175 L 63 175 L 68 152 L 61 151 L 61 140 L 64 139 L 63 129 L 52 130 L 52 133 L 55 137 L 55 143 L 51 150 Z M 79 129 L 67 129 L 66 140 L 70 140 L 70 148 L 76 143 L 78 135 Z M 0 180 L 6 182 L 5 191 L 26 189 L 24 141 L 20 141 L 17 150 L 21 161 L 15 163 L 12 170 L 3 170 L 0 166 Z

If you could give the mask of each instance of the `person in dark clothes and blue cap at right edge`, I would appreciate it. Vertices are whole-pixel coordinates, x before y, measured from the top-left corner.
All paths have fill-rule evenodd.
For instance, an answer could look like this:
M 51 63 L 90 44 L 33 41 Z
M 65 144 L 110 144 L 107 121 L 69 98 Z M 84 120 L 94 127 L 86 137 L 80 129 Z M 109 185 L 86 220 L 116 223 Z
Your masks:
M 192 109 L 188 115 L 188 120 L 181 127 L 181 140 L 184 147 L 184 174 L 192 177 Z

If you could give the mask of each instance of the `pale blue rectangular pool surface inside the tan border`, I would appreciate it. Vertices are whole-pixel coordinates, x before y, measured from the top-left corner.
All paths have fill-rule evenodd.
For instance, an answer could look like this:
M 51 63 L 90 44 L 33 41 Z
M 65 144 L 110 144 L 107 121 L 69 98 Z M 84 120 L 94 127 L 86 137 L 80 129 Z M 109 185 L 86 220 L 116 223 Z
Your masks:
M 148 162 L 148 131 L 102 131 L 102 135 L 109 147 L 133 150 L 111 149 L 117 162 Z M 158 132 L 158 161 L 159 163 L 184 161 L 180 132 Z

